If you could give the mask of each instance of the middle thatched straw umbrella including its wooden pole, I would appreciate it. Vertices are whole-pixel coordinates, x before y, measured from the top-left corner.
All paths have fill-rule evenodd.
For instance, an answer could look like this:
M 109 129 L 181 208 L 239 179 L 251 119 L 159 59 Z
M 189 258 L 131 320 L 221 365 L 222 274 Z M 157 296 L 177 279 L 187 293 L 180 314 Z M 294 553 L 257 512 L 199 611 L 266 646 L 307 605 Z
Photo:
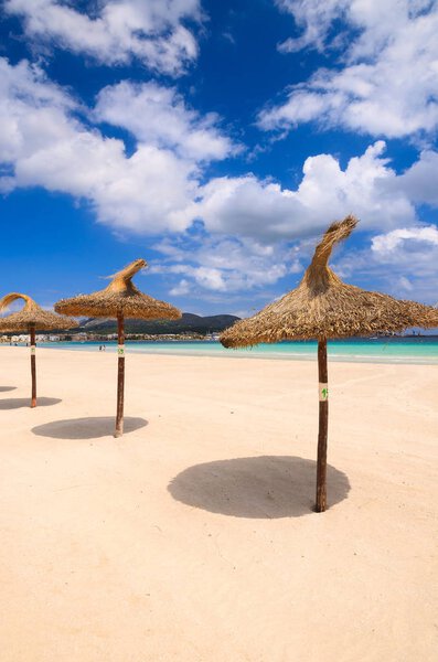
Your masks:
M 133 263 L 113 276 L 111 282 L 103 290 L 93 295 L 79 295 L 72 299 L 61 299 L 55 303 L 55 310 L 65 314 L 87 317 L 117 318 L 118 330 L 118 378 L 117 378 L 117 416 L 115 437 L 124 431 L 124 392 L 125 392 L 125 319 L 170 319 L 181 317 L 181 311 L 152 299 L 140 292 L 131 279 L 146 267 L 143 259 Z

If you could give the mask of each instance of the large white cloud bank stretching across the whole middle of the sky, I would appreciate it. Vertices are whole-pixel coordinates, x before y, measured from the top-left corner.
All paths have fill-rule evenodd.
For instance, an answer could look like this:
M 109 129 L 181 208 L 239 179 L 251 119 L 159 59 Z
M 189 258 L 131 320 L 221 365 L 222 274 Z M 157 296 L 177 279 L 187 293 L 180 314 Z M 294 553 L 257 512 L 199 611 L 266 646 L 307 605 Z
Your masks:
M 391 229 L 413 224 L 413 201 L 432 196 L 436 153 L 425 152 L 397 175 L 382 141 L 344 169 L 331 154 L 309 157 L 293 189 L 252 173 L 204 183 L 204 163 L 229 156 L 234 146 L 213 116 L 200 116 L 172 88 L 157 84 L 105 88 L 97 107 L 87 109 L 36 66 L 0 58 L 0 90 L 2 190 L 39 185 L 70 193 L 120 231 L 183 232 L 199 218 L 210 233 L 271 242 L 309 236 L 349 212 L 366 228 Z M 130 128 L 137 138 L 132 154 L 122 140 L 85 125 L 84 113 Z M 156 115 L 149 128 L 141 127 L 143 113 Z

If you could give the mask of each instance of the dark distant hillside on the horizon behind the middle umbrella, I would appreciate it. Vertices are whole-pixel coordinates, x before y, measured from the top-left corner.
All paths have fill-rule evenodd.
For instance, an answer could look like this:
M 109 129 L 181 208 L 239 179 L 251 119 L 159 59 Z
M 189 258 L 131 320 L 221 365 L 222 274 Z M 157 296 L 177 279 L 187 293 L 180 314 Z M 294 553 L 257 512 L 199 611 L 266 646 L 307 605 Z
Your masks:
M 214 333 L 231 327 L 239 318 L 234 314 L 215 314 L 201 317 L 191 312 L 183 312 L 180 320 L 126 320 L 126 333 Z M 74 332 L 88 331 L 89 333 L 116 333 L 117 322 L 114 319 L 90 318 L 85 320 Z

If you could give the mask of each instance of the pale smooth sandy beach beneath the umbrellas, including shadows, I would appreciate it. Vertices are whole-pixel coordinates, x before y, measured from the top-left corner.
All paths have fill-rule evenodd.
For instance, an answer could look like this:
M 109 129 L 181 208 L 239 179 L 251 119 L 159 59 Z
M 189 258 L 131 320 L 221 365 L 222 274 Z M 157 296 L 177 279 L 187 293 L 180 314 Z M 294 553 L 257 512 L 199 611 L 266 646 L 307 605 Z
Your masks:
M 0 348 L 1 662 L 432 662 L 438 366 Z

